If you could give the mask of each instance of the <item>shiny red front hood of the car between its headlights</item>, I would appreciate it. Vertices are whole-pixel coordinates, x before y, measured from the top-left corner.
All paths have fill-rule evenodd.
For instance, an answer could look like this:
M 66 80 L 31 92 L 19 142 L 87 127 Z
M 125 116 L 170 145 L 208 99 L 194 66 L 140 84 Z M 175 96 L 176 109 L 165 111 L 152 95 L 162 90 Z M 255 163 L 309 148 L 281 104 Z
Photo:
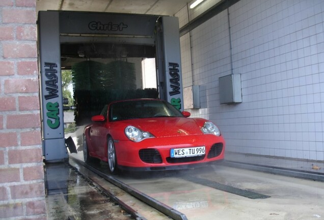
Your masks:
M 204 120 L 205 121 L 205 120 Z M 155 137 L 202 134 L 204 122 L 180 117 L 161 117 L 128 120 L 128 125 L 148 131 Z

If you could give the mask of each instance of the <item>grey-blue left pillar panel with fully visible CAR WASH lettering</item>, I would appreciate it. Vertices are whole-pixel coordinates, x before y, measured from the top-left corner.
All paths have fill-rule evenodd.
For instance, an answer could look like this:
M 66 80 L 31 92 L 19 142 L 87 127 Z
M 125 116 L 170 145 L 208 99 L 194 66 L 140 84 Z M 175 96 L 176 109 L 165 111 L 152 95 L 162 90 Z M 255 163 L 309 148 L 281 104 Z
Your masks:
M 39 12 L 38 22 L 43 139 L 64 139 L 59 12 Z

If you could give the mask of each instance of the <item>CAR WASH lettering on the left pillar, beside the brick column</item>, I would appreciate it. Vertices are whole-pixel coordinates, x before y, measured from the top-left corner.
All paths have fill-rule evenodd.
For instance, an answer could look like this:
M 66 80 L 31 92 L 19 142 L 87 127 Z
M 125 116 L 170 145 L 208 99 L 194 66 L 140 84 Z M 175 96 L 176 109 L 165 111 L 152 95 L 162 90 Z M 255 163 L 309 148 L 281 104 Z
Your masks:
M 58 65 L 56 63 L 46 63 L 45 62 L 45 90 L 47 94 L 44 95 L 45 100 L 58 98 L 59 97 L 59 87 L 58 87 L 58 70 L 56 69 Z M 46 116 L 48 119 L 46 123 L 48 127 L 56 129 L 60 126 L 59 117 L 59 103 L 58 102 L 47 102 L 46 103 Z

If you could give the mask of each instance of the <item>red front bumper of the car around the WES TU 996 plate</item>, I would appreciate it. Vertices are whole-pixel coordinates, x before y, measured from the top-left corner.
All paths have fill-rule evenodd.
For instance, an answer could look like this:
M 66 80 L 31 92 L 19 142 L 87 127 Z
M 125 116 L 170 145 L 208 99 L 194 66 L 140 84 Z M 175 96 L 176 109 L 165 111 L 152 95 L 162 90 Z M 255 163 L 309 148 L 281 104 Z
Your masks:
M 210 154 L 212 146 L 221 145 L 221 150 Z M 192 148 L 205 146 L 205 155 L 196 157 L 171 158 L 171 148 Z M 212 134 L 197 134 L 186 136 L 155 137 L 142 142 L 116 141 L 117 163 L 123 169 L 136 168 L 143 170 L 176 170 L 185 169 L 192 164 L 207 163 L 224 159 L 225 141 L 222 136 Z M 154 151 L 157 157 L 143 159 L 140 151 Z M 212 155 L 212 156 L 210 156 Z M 130 169 L 131 170 L 131 169 Z

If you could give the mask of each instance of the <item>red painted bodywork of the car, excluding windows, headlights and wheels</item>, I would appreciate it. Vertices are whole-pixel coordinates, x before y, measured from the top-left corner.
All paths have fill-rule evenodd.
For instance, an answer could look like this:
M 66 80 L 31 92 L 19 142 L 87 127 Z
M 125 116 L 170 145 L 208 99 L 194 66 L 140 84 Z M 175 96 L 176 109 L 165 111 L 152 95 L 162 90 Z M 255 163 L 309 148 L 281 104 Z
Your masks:
M 107 117 L 108 118 L 108 117 Z M 123 168 L 156 168 L 172 167 L 195 163 L 205 163 L 224 159 L 225 141 L 223 136 L 205 134 L 201 127 L 207 120 L 185 117 L 156 117 L 129 119 L 121 121 L 94 122 L 85 127 L 89 155 L 107 161 L 107 139 L 111 136 L 115 143 L 118 167 Z M 125 135 L 127 126 L 135 126 L 148 131 L 154 137 L 140 142 L 133 142 Z M 207 158 L 211 147 L 222 144 L 219 155 Z M 190 148 L 205 146 L 205 157 L 198 161 L 168 162 L 171 148 Z M 161 162 L 148 163 L 139 156 L 141 149 L 155 149 L 161 155 Z

